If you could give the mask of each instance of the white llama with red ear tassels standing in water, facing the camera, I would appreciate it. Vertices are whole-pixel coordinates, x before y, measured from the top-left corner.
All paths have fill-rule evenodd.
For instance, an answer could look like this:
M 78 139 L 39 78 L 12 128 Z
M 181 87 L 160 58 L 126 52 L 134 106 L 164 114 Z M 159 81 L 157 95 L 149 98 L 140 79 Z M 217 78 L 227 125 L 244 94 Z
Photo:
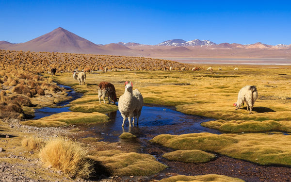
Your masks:
M 122 127 L 124 126 L 124 121 L 126 118 L 129 120 L 129 127 L 131 128 L 131 117 L 134 117 L 134 113 L 136 113 L 135 117 L 139 116 L 139 103 L 138 99 L 133 96 L 132 92 L 132 83 L 126 82 L 125 83 L 125 90 L 124 94 L 119 97 L 118 101 L 118 110 L 123 117 Z M 133 123 L 134 124 L 134 123 Z

